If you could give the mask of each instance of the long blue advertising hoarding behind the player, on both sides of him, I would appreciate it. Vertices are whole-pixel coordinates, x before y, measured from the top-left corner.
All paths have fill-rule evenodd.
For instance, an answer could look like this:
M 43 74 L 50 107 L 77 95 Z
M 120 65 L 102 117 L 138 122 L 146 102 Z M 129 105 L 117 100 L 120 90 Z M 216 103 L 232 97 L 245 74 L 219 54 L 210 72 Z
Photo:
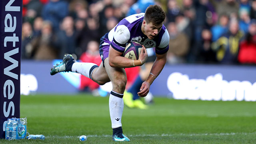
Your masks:
M 80 74 L 50 76 L 50 68 L 60 61 L 22 61 L 21 93 L 78 93 Z M 256 101 L 255 74 L 255 66 L 166 65 L 150 91 L 154 96 L 174 99 Z M 111 85 L 104 89 L 111 90 Z

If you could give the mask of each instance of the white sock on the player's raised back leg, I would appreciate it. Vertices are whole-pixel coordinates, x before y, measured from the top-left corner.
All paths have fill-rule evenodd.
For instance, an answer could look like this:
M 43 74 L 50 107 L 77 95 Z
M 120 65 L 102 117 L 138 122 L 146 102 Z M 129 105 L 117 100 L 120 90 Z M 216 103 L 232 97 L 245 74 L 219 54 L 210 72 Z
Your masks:
M 96 64 L 90 62 L 75 62 L 71 70 L 92 79 L 92 72 L 97 67 Z

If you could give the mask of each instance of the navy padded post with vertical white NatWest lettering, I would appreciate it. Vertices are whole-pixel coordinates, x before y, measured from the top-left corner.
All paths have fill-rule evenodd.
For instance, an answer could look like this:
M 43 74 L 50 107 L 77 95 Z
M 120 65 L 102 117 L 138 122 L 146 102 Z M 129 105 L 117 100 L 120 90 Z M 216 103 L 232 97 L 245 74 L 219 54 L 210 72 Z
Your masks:
M 1 0 L 0 138 L 7 118 L 20 117 L 22 0 Z

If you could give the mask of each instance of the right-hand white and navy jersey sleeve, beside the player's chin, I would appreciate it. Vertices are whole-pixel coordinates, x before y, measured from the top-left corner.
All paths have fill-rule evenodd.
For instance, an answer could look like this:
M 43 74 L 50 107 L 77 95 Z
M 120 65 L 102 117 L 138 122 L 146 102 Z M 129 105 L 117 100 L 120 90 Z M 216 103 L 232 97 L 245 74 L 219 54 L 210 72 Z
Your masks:
M 166 52 L 168 52 L 169 41 L 170 41 L 169 32 L 167 29 L 165 29 L 165 32 L 162 36 L 159 46 L 156 46 L 156 54 L 165 54 Z

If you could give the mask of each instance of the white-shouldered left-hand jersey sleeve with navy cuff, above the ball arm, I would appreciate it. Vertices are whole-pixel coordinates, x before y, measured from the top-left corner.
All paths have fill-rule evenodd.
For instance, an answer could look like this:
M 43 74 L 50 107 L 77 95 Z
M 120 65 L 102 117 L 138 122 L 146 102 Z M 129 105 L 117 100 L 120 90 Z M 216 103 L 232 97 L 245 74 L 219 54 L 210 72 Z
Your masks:
M 124 52 L 126 42 L 130 39 L 130 31 L 124 25 L 116 27 L 114 32 L 114 38 L 111 42 L 111 46 L 118 52 Z

